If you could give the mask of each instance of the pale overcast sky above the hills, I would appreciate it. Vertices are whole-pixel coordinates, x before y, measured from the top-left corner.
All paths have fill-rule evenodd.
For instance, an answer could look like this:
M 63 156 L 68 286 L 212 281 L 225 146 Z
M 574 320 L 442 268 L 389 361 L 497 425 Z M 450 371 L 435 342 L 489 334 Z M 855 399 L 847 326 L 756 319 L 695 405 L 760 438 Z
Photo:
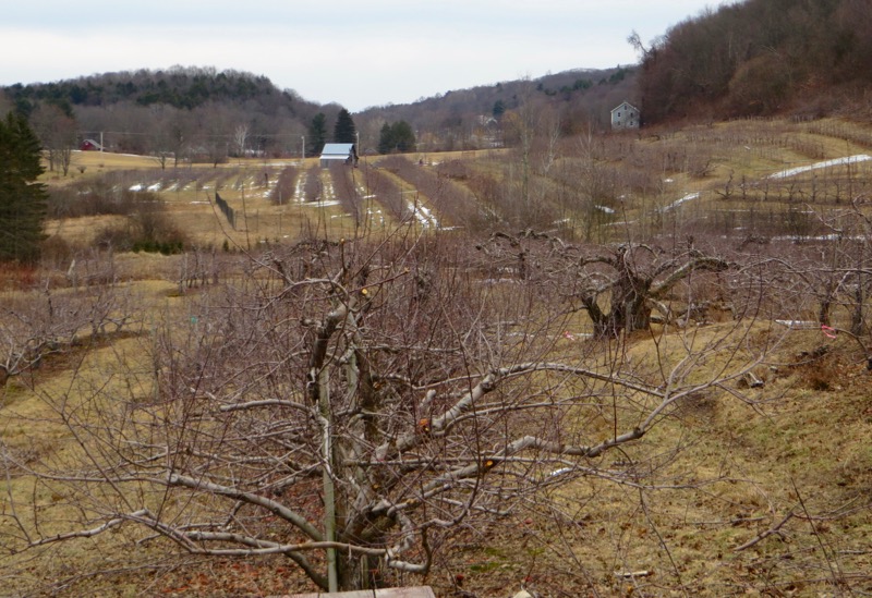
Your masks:
M 548 72 L 638 62 L 719 0 L 16 0 L 0 85 L 173 65 L 265 75 L 359 111 Z M 14 51 L 12 50 L 14 48 Z

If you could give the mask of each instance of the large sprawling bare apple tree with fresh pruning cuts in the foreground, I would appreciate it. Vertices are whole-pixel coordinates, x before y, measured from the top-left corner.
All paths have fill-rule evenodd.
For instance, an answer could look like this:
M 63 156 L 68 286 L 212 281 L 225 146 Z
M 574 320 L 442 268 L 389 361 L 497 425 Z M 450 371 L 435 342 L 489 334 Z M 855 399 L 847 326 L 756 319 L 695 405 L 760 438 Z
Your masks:
M 10 495 L 3 544 L 143 529 L 137 547 L 283 556 L 320 589 L 398 584 L 429 572 L 457 528 L 547 487 L 643 484 L 656 467 L 604 455 L 628 455 L 701 391 L 738 393 L 765 357 L 737 321 L 642 366 L 568 338 L 579 313 L 553 280 L 493 279 L 481 255 L 447 239 L 311 241 L 185 296 L 113 374 L 137 383 L 44 391 L 76 449 L 3 462 L 76 509 Z

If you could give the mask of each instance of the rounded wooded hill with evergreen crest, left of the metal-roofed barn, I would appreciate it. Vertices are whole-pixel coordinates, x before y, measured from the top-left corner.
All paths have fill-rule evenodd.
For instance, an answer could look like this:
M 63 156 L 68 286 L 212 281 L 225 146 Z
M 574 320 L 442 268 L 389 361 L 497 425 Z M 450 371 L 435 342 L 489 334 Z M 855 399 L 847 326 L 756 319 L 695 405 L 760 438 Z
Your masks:
M 312 119 L 323 112 L 332 122 L 340 110 L 279 89 L 265 76 L 210 68 L 106 73 L 3 91 L 37 131 L 72 129 L 80 142 L 102 134 L 113 151 L 209 159 L 218 148 L 226 157 L 243 130 L 252 150 L 299 154 Z

